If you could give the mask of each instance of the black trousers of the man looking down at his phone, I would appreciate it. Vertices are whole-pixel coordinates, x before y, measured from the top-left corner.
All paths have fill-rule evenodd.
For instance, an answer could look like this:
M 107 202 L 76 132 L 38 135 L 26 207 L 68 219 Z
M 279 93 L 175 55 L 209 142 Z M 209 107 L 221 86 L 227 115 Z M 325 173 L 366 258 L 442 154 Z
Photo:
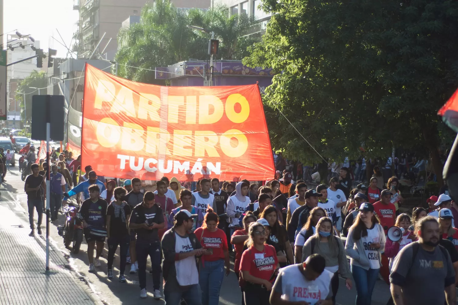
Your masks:
M 146 240 L 137 239 L 135 244 L 138 262 L 138 281 L 140 289 L 146 288 L 146 261 L 148 255 L 151 258 L 151 269 L 153 270 L 153 289 L 159 290 L 161 281 L 161 244 L 158 241 L 150 243 Z

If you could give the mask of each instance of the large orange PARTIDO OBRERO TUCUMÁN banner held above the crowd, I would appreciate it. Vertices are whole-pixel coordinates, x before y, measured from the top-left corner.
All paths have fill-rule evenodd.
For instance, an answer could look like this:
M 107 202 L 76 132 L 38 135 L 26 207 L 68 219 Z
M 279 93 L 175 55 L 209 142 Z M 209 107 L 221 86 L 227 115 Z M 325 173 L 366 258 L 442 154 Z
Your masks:
M 82 168 L 99 175 L 180 181 L 273 179 L 257 85 L 163 87 L 86 65 Z

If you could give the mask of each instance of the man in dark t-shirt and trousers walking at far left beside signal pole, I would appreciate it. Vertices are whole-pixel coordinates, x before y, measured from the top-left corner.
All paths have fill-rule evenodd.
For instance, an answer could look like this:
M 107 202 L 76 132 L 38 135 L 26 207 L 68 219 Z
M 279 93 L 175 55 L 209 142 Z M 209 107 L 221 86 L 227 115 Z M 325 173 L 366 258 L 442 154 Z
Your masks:
M 30 236 L 35 234 L 34 223 L 33 223 L 33 208 L 37 210 L 38 213 L 38 223 L 37 223 L 37 232 L 41 235 L 41 221 L 43 219 L 43 201 L 42 201 L 42 188 L 44 189 L 46 185 L 44 184 L 43 176 L 38 174 L 38 164 L 33 163 L 30 166 L 32 174 L 28 175 L 26 178 L 26 183 L 24 185 L 24 191 L 27 193 L 27 207 L 29 212 L 29 222 L 30 222 Z

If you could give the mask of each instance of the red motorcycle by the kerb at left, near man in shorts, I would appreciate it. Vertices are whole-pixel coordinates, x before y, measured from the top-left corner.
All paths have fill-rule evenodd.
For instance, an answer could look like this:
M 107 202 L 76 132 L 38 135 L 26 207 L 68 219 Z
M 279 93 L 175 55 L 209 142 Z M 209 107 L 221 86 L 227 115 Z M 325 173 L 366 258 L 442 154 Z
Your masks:
M 83 224 L 81 222 L 80 213 L 78 212 L 77 207 L 73 206 L 71 203 L 63 207 L 65 213 L 65 225 L 58 226 L 57 230 L 59 235 L 64 238 L 65 248 L 70 249 L 74 254 L 77 254 L 80 251 L 81 243 L 83 241 Z

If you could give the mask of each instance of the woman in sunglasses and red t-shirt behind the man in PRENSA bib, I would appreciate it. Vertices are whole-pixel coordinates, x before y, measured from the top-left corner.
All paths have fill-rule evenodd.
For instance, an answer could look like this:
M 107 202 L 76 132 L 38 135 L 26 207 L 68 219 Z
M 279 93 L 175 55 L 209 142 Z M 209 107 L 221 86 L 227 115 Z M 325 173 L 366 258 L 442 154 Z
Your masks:
M 248 236 L 248 249 L 240 261 L 245 304 L 269 305 L 274 272 L 279 267 L 277 254 L 273 246 L 265 243 L 266 231 L 261 223 L 251 223 Z

